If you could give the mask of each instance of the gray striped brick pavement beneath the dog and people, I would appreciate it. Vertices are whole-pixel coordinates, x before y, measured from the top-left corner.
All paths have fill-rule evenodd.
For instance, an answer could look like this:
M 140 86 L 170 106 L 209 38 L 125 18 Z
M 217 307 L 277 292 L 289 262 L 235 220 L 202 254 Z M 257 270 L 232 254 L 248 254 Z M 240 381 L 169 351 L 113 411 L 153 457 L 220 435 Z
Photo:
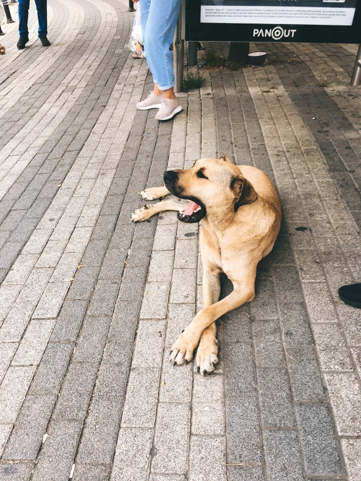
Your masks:
M 359 481 L 361 312 L 337 297 L 361 281 L 357 46 L 252 46 L 263 66 L 199 67 L 158 123 L 135 108 L 151 78 L 127 8 L 49 0 L 48 48 L 34 3 L 25 50 L 3 26 L 0 479 Z M 202 377 L 167 362 L 202 306 L 198 226 L 130 213 L 167 168 L 223 153 L 270 175 L 283 225 Z

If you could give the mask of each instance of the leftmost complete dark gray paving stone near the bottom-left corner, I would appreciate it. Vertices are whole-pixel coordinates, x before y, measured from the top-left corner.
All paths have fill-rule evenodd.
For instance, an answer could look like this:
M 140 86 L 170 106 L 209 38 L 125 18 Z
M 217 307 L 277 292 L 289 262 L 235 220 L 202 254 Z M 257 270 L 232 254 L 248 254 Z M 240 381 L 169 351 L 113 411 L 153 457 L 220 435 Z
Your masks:
M 36 460 L 56 395 L 27 396 L 4 452 L 5 459 Z

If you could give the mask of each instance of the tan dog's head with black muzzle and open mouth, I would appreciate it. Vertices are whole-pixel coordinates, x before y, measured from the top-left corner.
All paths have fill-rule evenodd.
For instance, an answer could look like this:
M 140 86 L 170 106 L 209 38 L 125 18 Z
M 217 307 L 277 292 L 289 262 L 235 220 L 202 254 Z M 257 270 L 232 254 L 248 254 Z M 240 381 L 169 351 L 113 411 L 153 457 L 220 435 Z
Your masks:
M 190 200 L 178 219 L 199 222 L 212 212 L 232 210 L 257 199 L 257 192 L 225 155 L 200 159 L 187 170 L 164 172 L 164 184 L 173 195 Z

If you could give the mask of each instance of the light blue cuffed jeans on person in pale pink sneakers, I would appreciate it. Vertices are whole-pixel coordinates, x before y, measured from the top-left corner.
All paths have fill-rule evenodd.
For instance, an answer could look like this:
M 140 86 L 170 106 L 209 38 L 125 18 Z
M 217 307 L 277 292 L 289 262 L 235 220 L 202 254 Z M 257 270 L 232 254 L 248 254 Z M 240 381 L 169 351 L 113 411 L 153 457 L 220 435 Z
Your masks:
M 146 61 L 159 90 L 174 85 L 173 42 L 180 0 L 140 0 L 140 22 Z

